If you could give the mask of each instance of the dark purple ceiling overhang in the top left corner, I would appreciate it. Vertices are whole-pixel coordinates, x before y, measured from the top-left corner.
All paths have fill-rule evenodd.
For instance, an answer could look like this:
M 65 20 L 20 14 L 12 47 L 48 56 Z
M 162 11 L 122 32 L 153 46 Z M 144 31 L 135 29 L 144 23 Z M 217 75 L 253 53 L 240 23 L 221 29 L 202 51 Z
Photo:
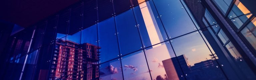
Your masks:
M 1 0 L 0 20 L 28 27 L 80 0 Z

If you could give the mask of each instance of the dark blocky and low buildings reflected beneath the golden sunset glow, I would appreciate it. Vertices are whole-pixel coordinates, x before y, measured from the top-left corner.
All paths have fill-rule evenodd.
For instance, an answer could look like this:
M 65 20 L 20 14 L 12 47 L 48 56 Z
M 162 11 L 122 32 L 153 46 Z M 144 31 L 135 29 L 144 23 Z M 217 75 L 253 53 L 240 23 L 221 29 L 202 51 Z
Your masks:
M 224 75 L 222 75 L 222 72 L 217 67 L 217 62 L 212 59 L 195 63 L 194 66 L 188 64 L 188 58 L 185 55 L 166 59 L 162 62 L 167 77 L 172 80 L 178 80 L 175 79 L 178 77 L 180 80 L 183 80 L 184 76 L 187 80 L 217 80 L 224 78 Z M 182 71 L 185 75 L 182 75 Z M 175 77 L 176 75 L 178 77 Z

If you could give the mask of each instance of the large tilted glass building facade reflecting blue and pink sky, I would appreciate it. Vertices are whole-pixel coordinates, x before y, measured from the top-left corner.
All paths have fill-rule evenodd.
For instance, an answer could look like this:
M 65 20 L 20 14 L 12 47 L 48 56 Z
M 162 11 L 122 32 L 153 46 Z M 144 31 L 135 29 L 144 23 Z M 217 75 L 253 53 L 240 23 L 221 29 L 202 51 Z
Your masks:
M 82 0 L 11 36 L 3 79 L 255 80 L 256 14 L 243 3 Z

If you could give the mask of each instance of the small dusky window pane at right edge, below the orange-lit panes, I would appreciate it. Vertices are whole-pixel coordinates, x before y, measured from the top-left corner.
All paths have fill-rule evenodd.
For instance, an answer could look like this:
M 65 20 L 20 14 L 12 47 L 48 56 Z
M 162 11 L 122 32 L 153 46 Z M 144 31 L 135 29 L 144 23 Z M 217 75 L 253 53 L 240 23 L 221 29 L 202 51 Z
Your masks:
M 256 37 L 255 34 L 252 34 L 252 32 L 245 27 L 241 33 L 246 38 L 246 40 L 252 45 L 252 47 L 256 50 Z

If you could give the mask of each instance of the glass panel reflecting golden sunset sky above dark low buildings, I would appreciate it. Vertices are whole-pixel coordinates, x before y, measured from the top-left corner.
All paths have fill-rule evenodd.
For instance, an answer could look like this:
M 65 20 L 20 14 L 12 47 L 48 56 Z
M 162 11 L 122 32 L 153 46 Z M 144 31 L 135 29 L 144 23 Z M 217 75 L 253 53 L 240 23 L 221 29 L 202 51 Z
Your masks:
M 178 62 L 187 79 L 226 79 L 215 61 L 218 59 L 217 55 L 210 52 L 198 33 L 190 33 L 171 40 Z

